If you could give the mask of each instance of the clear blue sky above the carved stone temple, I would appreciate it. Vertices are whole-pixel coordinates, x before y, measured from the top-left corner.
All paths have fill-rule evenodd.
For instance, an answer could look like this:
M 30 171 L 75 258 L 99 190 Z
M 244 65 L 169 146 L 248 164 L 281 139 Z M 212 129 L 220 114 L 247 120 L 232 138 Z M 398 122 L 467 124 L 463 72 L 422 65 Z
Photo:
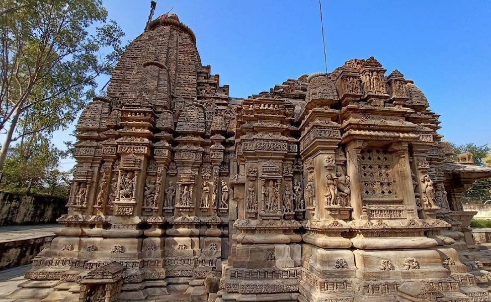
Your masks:
M 142 32 L 149 0 L 103 3 L 126 40 Z M 317 0 L 158 0 L 154 18 L 171 8 L 194 31 L 202 63 L 230 85 L 232 97 L 324 70 Z M 373 55 L 387 75 L 399 69 L 423 90 L 447 140 L 491 142 L 491 2 L 322 0 L 322 14 L 329 71 Z M 55 140 L 69 139 L 69 132 Z

